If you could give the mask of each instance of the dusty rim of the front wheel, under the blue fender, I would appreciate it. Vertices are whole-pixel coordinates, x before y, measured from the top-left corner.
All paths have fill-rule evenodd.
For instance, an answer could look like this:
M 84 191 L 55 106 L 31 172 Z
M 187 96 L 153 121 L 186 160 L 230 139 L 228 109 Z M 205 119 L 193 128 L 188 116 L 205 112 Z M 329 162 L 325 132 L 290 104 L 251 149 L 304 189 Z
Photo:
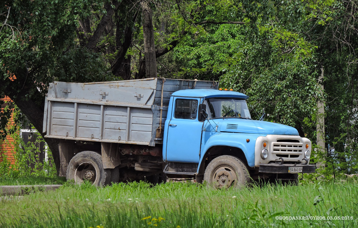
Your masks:
M 235 187 L 237 184 L 237 174 L 232 167 L 222 165 L 214 170 L 211 182 L 216 189 Z

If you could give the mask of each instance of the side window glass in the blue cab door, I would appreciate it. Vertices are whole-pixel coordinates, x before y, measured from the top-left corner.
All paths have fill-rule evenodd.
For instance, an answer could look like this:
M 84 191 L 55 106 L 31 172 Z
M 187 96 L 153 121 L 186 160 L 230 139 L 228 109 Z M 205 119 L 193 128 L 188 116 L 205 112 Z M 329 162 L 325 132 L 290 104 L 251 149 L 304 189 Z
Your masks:
M 174 117 L 176 119 L 196 119 L 198 100 L 176 99 Z

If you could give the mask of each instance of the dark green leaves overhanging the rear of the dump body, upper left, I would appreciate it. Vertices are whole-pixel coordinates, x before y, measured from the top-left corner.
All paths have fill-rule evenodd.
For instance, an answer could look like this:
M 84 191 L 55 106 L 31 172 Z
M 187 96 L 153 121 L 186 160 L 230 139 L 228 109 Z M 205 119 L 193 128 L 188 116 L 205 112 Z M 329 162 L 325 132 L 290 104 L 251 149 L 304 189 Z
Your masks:
M 102 64 L 100 55 L 79 47 L 76 42 L 79 19 L 91 15 L 102 4 L 103 1 L 16 0 L 1 5 L 6 15 L 11 6 L 8 26 L 5 25 L 0 34 L 3 79 L 8 78 L 10 72 L 19 73 L 17 77 L 22 81 L 35 82 L 29 98 L 38 89 L 44 95 L 48 83 L 54 80 L 105 80 L 108 69 Z M 22 79 L 20 73 L 25 69 L 29 73 L 26 79 Z M 2 84 L 6 85 L 8 83 Z M 20 90 L 21 87 L 13 89 Z

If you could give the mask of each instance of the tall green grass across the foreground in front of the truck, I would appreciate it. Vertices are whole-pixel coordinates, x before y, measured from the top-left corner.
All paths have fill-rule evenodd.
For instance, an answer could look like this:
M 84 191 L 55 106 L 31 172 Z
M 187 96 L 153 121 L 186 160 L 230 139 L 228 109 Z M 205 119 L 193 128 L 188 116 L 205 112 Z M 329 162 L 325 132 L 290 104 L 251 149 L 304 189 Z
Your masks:
M 213 190 L 194 183 L 72 185 L 0 199 L 0 227 L 357 227 L 358 182 Z M 349 220 L 277 220 L 348 216 Z M 350 219 L 353 217 L 353 219 Z

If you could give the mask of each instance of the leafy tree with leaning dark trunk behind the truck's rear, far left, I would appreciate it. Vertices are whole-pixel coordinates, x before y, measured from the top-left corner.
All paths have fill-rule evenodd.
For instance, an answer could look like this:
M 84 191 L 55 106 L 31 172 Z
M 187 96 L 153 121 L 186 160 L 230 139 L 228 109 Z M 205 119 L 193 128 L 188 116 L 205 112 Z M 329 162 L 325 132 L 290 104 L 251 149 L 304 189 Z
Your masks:
M 57 0 L 6 1 L 0 6 L 4 21 L 0 28 L 0 96 L 8 95 L 40 133 L 49 82 L 103 80 L 106 76 L 99 56 L 75 41 L 76 12 L 83 9 L 83 3 L 72 4 Z M 83 13 L 90 14 L 90 10 L 83 9 Z M 55 163 L 59 163 L 57 141 L 45 140 L 54 152 Z

